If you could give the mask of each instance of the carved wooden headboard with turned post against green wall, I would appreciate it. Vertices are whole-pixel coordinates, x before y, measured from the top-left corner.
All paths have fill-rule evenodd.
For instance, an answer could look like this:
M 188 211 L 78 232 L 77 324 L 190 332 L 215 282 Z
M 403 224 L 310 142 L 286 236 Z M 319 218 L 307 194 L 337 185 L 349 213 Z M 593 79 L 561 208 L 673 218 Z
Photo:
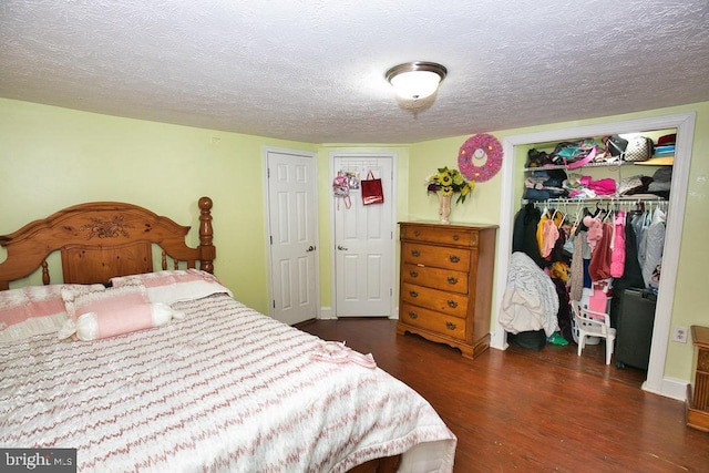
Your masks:
M 191 227 L 132 204 L 94 202 L 64 208 L 34 220 L 13 234 L 0 236 L 8 251 L 0 263 L 0 290 L 42 268 L 42 282 L 50 284 L 47 257 L 61 251 L 63 281 L 66 284 L 107 282 L 115 276 L 151 273 L 153 244 L 162 248 L 162 269 L 167 258 L 188 268 L 213 273 L 216 249 L 213 245 L 212 199 L 202 197 L 199 245 L 188 247 L 185 236 Z M 173 269 L 173 268 L 169 268 Z

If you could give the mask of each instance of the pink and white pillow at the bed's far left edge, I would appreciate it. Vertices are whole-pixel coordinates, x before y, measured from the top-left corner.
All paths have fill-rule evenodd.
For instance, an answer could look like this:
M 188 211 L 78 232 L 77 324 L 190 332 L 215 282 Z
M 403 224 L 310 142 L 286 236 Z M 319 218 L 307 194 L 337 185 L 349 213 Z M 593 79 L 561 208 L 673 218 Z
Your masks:
M 27 286 L 0 291 L 0 342 L 58 332 L 66 320 L 63 288 L 81 285 Z M 88 286 L 103 289 L 102 285 Z

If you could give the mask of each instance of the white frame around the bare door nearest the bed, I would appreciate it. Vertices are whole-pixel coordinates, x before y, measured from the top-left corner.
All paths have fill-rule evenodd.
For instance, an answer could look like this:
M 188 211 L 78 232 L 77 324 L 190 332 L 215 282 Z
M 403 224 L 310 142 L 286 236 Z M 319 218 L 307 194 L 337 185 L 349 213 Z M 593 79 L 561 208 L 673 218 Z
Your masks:
M 284 147 L 275 147 L 275 146 L 264 146 L 263 147 L 263 162 L 264 162 L 264 203 L 265 203 L 265 207 L 266 207 L 266 212 L 264 213 L 264 219 L 265 219 L 265 224 L 266 224 L 266 247 L 268 248 L 268 251 L 266 251 L 268 254 L 268 316 L 273 317 L 274 316 L 274 304 L 273 301 L 274 299 L 274 275 L 271 273 L 271 267 L 273 267 L 273 259 L 271 259 L 271 249 L 270 249 L 270 235 L 271 235 L 271 228 L 270 228 L 270 202 L 269 202 L 269 197 L 268 197 L 268 192 L 269 192 L 269 182 L 268 182 L 268 153 L 279 153 L 279 154 L 292 154 L 296 156 L 301 156 L 301 157 L 307 157 L 307 158 L 311 158 L 312 160 L 312 167 L 314 167 L 314 179 L 312 179 L 312 185 L 314 185 L 314 199 L 315 199 L 315 212 L 314 212 L 314 218 L 315 218 L 315 234 L 314 234 L 314 238 L 316 240 L 316 248 L 317 250 L 314 251 L 315 253 L 315 277 L 316 277 L 316 281 L 315 281 L 315 287 L 316 287 L 316 319 L 320 318 L 320 240 L 319 240 L 319 219 L 318 219 L 318 202 L 319 202 L 319 197 L 318 197 L 318 183 L 317 183 L 317 176 L 318 176 L 318 154 L 315 152 L 310 152 L 310 151 L 304 151 L 304 150 L 294 150 L 294 148 L 284 148 Z

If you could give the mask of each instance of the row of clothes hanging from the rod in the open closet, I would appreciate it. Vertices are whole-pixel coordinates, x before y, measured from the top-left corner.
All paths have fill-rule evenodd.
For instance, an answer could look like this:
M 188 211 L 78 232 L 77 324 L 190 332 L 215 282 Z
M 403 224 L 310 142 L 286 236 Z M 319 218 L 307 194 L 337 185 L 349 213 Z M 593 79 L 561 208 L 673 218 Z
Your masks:
M 578 206 L 575 216 L 547 208 L 554 204 L 537 202 L 520 209 L 515 216 L 513 250 L 525 253 L 551 277 L 559 301 L 558 328 L 572 341 L 567 330 L 568 300 L 587 297 L 589 292 L 584 289 L 590 289 L 590 294 L 602 290 L 610 298 L 614 320 L 625 289 L 647 288 L 650 280 L 657 284 L 666 218 L 660 208 L 645 210 L 645 204 L 639 202 L 635 205 L 641 210 L 624 210 L 618 208 L 620 204 L 608 203 L 605 209 L 599 205 L 595 210 L 585 207 L 583 216 L 583 203 L 574 203 Z M 545 208 L 542 212 L 537 206 Z M 559 216 L 568 217 L 569 222 L 562 224 Z M 565 232 L 563 226 L 571 228 Z M 555 267 L 557 264 L 567 264 L 565 274 Z

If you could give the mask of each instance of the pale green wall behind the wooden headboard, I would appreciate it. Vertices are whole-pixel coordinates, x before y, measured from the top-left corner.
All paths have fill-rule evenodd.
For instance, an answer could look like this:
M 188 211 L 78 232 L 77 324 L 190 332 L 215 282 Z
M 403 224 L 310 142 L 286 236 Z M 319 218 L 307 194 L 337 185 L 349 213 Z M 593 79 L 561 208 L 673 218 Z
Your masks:
M 119 200 L 192 225 L 196 245 L 197 199 L 206 195 L 214 200 L 216 276 L 266 312 L 264 146 L 316 151 L 0 99 L 0 235 L 70 205 Z

